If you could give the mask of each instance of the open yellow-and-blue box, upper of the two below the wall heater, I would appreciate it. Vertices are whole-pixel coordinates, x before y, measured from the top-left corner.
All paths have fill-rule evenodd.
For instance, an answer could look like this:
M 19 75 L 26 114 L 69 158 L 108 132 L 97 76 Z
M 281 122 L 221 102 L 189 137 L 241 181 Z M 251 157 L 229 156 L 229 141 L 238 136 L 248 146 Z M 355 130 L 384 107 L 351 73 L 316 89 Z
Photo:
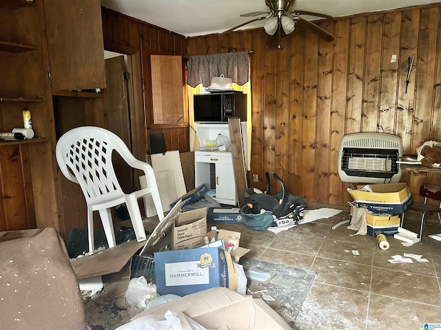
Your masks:
M 370 184 L 373 192 L 348 188 L 359 208 L 375 213 L 404 213 L 413 203 L 411 190 L 404 182 L 396 184 Z

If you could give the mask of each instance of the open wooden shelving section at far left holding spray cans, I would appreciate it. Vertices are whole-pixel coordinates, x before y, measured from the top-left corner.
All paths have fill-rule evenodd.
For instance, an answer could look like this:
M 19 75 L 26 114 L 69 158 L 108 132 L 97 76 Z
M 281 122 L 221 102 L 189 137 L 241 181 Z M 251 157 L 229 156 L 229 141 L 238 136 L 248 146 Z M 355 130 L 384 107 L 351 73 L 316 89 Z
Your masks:
M 0 131 L 23 127 L 28 110 L 35 133 L 0 141 L 0 230 L 59 227 L 43 17 L 41 1 L 0 0 Z

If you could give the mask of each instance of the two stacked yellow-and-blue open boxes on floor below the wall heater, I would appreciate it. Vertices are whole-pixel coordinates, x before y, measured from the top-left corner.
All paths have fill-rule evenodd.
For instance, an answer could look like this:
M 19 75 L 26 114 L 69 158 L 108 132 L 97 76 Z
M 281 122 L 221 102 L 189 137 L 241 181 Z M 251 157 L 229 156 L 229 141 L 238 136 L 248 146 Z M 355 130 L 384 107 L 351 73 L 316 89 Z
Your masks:
M 412 205 L 413 197 L 406 183 L 371 184 L 371 191 L 363 187 L 348 188 L 354 199 L 355 206 L 367 208 L 367 234 L 376 236 L 376 232 L 384 235 L 393 235 L 400 227 L 400 214 L 406 212 Z M 351 210 L 352 211 L 352 210 Z

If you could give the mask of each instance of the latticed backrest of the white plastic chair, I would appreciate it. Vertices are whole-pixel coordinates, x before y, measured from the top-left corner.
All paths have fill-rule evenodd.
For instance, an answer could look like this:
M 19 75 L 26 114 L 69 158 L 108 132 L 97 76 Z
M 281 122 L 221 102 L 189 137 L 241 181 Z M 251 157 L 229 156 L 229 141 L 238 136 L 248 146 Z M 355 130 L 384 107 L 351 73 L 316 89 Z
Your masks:
M 95 126 L 81 126 L 63 134 L 56 157 L 61 172 L 81 186 L 86 201 L 123 195 L 112 164 L 112 152 L 134 159 L 118 135 Z

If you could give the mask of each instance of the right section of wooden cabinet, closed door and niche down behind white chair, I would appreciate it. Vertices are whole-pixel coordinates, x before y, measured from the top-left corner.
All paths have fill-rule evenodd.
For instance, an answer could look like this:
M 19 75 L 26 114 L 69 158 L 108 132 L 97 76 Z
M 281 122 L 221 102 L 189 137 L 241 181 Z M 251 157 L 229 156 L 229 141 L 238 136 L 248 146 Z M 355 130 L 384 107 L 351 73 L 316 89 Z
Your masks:
M 44 0 L 44 9 L 55 143 L 78 126 L 107 128 L 100 1 Z M 57 175 L 60 232 L 67 239 L 72 228 L 86 228 L 87 207 L 80 186 Z

